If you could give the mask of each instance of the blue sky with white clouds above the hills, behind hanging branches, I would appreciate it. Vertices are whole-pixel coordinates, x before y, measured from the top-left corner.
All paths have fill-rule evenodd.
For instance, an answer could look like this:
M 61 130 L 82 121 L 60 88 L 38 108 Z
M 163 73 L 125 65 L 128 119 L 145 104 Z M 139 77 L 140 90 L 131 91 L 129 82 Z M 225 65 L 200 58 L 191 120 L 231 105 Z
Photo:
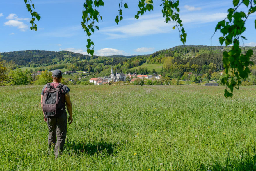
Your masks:
M 29 29 L 31 15 L 23 0 L 0 2 L 0 52 L 18 50 L 68 50 L 86 53 L 86 34 L 81 27 L 84 0 L 32 0 L 35 10 L 41 15 L 36 20 L 38 31 Z M 123 0 L 129 9 L 123 8 L 123 20 L 115 23 L 118 15 L 118 0 L 105 0 L 99 11 L 103 21 L 98 23 L 99 31 L 91 36 L 95 55 L 141 55 L 182 45 L 179 32 L 173 30 L 174 22 L 165 23 L 161 13 L 160 0 L 154 0 L 154 11 L 146 12 L 138 20 L 138 1 Z M 180 18 L 187 33 L 186 45 L 211 45 L 210 38 L 218 21 L 227 16 L 232 0 L 180 1 Z M 240 8 L 248 11 L 247 7 Z M 255 15 L 246 23 L 243 34 L 248 40 L 246 46 L 256 46 Z M 212 45 L 220 45 L 218 32 Z

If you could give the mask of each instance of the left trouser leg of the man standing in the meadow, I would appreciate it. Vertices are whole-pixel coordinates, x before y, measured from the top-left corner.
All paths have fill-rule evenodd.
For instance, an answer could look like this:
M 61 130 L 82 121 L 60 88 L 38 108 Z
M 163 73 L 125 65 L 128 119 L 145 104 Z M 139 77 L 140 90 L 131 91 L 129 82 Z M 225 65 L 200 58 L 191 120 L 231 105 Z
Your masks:
M 51 146 L 56 144 L 56 118 L 47 118 L 49 130 L 48 135 L 48 153 L 51 153 Z

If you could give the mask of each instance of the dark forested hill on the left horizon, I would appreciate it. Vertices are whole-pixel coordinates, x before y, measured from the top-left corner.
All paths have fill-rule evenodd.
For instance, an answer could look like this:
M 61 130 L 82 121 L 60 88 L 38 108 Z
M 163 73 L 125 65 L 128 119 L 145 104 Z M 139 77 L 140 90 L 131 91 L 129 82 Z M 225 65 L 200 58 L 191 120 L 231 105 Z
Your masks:
M 13 61 L 19 67 L 39 67 L 58 63 L 73 63 L 80 60 L 92 59 L 91 56 L 69 51 L 23 50 L 3 52 L 0 56 L 7 62 Z M 93 58 L 97 58 L 94 56 Z

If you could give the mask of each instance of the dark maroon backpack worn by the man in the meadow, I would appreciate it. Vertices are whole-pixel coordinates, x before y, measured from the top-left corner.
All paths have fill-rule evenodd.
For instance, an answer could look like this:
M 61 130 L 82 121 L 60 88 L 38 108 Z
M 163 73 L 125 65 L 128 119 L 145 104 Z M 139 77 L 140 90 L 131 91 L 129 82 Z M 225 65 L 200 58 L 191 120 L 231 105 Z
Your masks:
M 59 84 L 56 88 L 47 84 L 43 96 L 43 111 L 46 117 L 54 118 L 63 114 L 65 110 L 65 94 L 62 91 L 63 84 Z

